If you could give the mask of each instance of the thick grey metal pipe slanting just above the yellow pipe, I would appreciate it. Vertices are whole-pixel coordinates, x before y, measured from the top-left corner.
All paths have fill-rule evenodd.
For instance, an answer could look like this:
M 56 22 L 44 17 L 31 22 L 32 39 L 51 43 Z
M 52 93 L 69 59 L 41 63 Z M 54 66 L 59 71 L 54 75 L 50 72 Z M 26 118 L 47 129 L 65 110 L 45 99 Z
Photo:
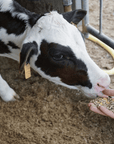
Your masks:
M 104 42 L 105 44 L 107 44 L 108 46 L 110 46 L 111 48 L 114 49 L 114 40 L 112 40 L 108 36 L 104 35 L 103 33 L 99 34 L 99 31 L 90 25 L 87 25 L 86 29 L 90 34 L 97 37 L 102 42 Z

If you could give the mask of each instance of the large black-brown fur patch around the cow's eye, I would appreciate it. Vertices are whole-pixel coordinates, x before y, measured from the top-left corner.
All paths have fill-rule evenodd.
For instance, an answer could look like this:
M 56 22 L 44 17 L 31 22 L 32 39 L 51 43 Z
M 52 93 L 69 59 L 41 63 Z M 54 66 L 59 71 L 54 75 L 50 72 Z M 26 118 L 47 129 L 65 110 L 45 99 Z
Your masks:
M 41 54 L 35 65 L 51 77 L 59 77 L 67 85 L 81 85 L 92 88 L 88 78 L 87 67 L 83 61 L 77 59 L 70 47 L 50 43 L 41 43 Z

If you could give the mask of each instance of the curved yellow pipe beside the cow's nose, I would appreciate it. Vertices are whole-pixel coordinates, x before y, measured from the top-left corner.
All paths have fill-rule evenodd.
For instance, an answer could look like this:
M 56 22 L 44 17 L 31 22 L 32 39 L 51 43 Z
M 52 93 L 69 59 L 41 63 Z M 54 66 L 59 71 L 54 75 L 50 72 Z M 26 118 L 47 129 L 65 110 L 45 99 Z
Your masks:
M 112 48 L 110 48 L 108 45 L 106 45 L 105 43 L 103 43 L 102 41 L 100 41 L 98 38 L 92 36 L 89 34 L 88 37 L 89 40 L 99 44 L 101 47 L 103 47 L 105 50 L 107 50 L 111 56 L 114 58 L 114 50 Z M 113 75 L 114 74 L 114 68 L 112 68 L 111 70 L 104 70 L 107 74 L 109 75 Z

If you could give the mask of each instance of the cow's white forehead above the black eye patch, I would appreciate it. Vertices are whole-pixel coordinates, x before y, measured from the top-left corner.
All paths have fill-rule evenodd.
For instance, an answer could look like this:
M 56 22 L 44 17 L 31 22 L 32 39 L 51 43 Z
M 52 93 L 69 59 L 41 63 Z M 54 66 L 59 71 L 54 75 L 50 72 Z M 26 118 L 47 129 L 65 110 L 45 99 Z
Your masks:
M 36 25 L 41 29 L 40 35 L 48 43 L 58 43 L 72 48 L 78 48 L 78 46 L 85 48 L 79 30 L 56 11 L 45 14 Z

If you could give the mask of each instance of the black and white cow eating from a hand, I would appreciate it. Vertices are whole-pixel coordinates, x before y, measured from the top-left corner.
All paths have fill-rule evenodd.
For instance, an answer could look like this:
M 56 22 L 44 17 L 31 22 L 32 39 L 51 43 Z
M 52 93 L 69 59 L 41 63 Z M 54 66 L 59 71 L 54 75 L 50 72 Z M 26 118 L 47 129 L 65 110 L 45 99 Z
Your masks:
M 89 57 L 83 38 L 70 22 L 78 23 L 83 10 L 38 15 L 13 0 L 0 0 L 0 56 L 25 63 L 42 77 L 87 96 L 102 93 L 110 84 L 109 76 Z M 15 100 L 17 94 L 0 76 L 0 96 Z

